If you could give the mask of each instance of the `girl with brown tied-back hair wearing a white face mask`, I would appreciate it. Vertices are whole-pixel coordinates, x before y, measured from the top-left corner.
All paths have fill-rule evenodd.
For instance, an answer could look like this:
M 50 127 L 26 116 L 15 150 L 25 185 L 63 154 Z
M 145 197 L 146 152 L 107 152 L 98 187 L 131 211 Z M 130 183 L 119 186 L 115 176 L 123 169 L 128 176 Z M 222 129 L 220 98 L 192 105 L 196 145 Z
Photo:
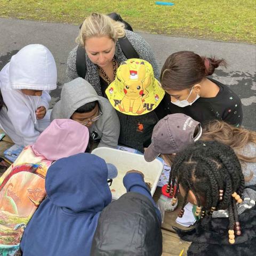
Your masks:
M 168 114 L 183 113 L 202 124 L 219 119 L 241 125 L 239 97 L 227 85 L 208 77 L 219 66 L 226 66 L 225 60 L 201 57 L 191 51 L 170 55 L 160 76 L 163 89 L 170 95 L 165 102 Z

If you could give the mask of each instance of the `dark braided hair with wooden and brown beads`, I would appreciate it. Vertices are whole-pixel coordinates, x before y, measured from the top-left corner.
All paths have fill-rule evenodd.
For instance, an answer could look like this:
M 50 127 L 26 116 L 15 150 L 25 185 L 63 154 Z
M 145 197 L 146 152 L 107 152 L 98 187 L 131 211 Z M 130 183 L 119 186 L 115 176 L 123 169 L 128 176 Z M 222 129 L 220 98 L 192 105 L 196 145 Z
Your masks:
M 244 175 L 241 165 L 232 148 L 217 141 L 197 141 L 176 155 L 169 179 L 169 187 L 182 185 L 186 195 L 179 217 L 182 217 L 188 191 L 195 194 L 197 214 L 201 217 L 214 210 L 228 209 L 229 242 L 235 242 L 234 229 L 241 235 L 236 203 L 242 202 Z M 177 189 L 178 190 L 178 189 Z M 177 198 L 177 190 L 173 198 Z M 205 198 L 201 211 L 200 197 Z

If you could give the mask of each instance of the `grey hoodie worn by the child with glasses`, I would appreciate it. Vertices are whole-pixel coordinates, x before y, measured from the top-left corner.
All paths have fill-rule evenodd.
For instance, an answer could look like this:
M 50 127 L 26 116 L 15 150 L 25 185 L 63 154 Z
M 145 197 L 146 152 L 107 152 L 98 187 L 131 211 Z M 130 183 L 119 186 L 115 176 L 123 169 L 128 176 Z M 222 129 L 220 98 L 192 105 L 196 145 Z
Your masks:
M 98 134 L 95 138 L 100 139 L 98 147 L 116 148 L 120 133 L 116 111 L 107 99 L 98 96 L 93 87 L 81 77 L 63 85 L 60 101 L 52 109 L 51 121 L 57 118 L 68 119 L 79 107 L 93 101 L 99 102 L 102 116 L 89 127 L 90 134 Z

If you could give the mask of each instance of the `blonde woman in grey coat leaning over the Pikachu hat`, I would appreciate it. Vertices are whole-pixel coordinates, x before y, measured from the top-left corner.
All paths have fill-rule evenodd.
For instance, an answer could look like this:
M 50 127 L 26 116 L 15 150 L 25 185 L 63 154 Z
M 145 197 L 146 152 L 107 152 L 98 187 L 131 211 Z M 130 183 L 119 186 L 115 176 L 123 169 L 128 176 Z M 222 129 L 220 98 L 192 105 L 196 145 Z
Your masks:
M 124 27 L 124 23 L 104 14 L 92 13 L 87 17 L 76 38 L 78 45 L 69 53 L 67 61 L 69 81 L 78 77 L 77 49 L 82 45 L 85 49 L 86 62 L 83 78 L 94 87 L 98 95 L 106 97 L 105 90 L 114 81 L 118 66 L 127 59 L 118 38 L 127 38 L 138 54 L 137 58 L 147 60 L 153 66 L 156 79 L 159 79 L 159 70 L 151 47 L 141 36 Z

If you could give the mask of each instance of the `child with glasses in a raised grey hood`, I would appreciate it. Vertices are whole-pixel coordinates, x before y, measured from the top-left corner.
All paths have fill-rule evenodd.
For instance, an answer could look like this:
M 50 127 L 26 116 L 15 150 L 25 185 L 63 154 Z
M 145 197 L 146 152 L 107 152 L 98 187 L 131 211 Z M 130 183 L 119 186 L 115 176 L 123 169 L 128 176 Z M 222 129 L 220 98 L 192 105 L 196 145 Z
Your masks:
M 87 126 L 99 147 L 117 147 L 120 123 L 115 109 L 82 78 L 63 86 L 51 114 L 51 120 L 56 118 L 70 118 Z

